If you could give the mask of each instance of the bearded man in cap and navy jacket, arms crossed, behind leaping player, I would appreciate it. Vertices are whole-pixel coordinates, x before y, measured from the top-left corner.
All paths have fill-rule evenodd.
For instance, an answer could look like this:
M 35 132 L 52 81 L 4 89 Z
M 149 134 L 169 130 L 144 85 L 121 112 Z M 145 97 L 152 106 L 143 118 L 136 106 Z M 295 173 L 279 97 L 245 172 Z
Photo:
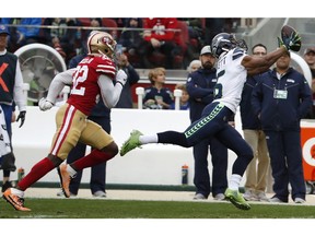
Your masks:
M 213 101 L 213 87 L 217 83 L 215 57 L 210 46 L 200 51 L 201 68 L 188 75 L 186 83 L 190 103 L 191 123 L 201 117 L 203 108 Z M 211 153 L 212 163 L 212 196 L 223 200 L 228 188 L 228 149 L 215 138 L 203 140 L 196 144 L 194 150 L 196 194 L 194 199 L 207 199 L 210 194 L 210 175 L 208 170 L 208 153 Z

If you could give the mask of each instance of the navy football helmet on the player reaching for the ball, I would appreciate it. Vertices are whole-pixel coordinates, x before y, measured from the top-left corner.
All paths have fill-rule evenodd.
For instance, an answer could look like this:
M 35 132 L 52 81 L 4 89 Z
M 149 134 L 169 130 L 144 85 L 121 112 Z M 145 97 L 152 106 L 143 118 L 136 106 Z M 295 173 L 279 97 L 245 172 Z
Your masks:
M 234 34 L 220 33 L 215 35 L 211 43 L 212 54 L 219 58 L 222 52 L 228 52 L 229 50 L 241 47 L 247 51 L 247 45 L 244 39 L 236 40 Z

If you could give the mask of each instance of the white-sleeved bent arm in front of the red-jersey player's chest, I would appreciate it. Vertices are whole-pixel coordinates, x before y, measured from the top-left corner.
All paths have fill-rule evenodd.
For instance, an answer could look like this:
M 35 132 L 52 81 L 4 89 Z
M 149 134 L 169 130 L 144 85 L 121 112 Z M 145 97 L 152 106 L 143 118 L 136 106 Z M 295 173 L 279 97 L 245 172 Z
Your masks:
M 101 95 L 104 104 L 108 108 L 115 107 L 119 101 L 122 85 L 120 83 L 114 85 L 113 80 L 105 74 L 100 75 L 97 83 L 101 87 Z

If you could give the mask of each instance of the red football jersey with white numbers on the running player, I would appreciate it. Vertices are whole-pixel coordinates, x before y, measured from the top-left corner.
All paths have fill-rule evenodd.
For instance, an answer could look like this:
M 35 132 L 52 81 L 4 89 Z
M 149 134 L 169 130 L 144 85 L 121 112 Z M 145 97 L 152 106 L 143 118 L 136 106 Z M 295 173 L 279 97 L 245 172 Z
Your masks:
M 80 61 L 73 73 L 73 85 L 67 103 L 89 116 L 101 93 L 97 83 L 101 74 L 113 80 L 116 75 L 116 66 L 108 57 L 86 56 Z

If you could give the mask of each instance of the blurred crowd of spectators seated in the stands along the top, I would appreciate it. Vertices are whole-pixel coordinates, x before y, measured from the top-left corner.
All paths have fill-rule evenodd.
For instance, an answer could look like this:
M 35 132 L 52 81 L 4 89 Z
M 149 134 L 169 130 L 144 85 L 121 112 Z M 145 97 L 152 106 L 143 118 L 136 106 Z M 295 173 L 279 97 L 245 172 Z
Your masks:
M 117 50 L 128 56 L 135 68 L 186 69 L 199 58 L 200 49 L 211 43 L 220 32 L 233 33 L 241 19 L 180 19 L 180 17 L 2 17 L 8 25 L 10 40 L 8 50 L 40 43 L 54 47 L 69 61 L 85 54 L 85 42 L 93 30 L 110 33 Z

